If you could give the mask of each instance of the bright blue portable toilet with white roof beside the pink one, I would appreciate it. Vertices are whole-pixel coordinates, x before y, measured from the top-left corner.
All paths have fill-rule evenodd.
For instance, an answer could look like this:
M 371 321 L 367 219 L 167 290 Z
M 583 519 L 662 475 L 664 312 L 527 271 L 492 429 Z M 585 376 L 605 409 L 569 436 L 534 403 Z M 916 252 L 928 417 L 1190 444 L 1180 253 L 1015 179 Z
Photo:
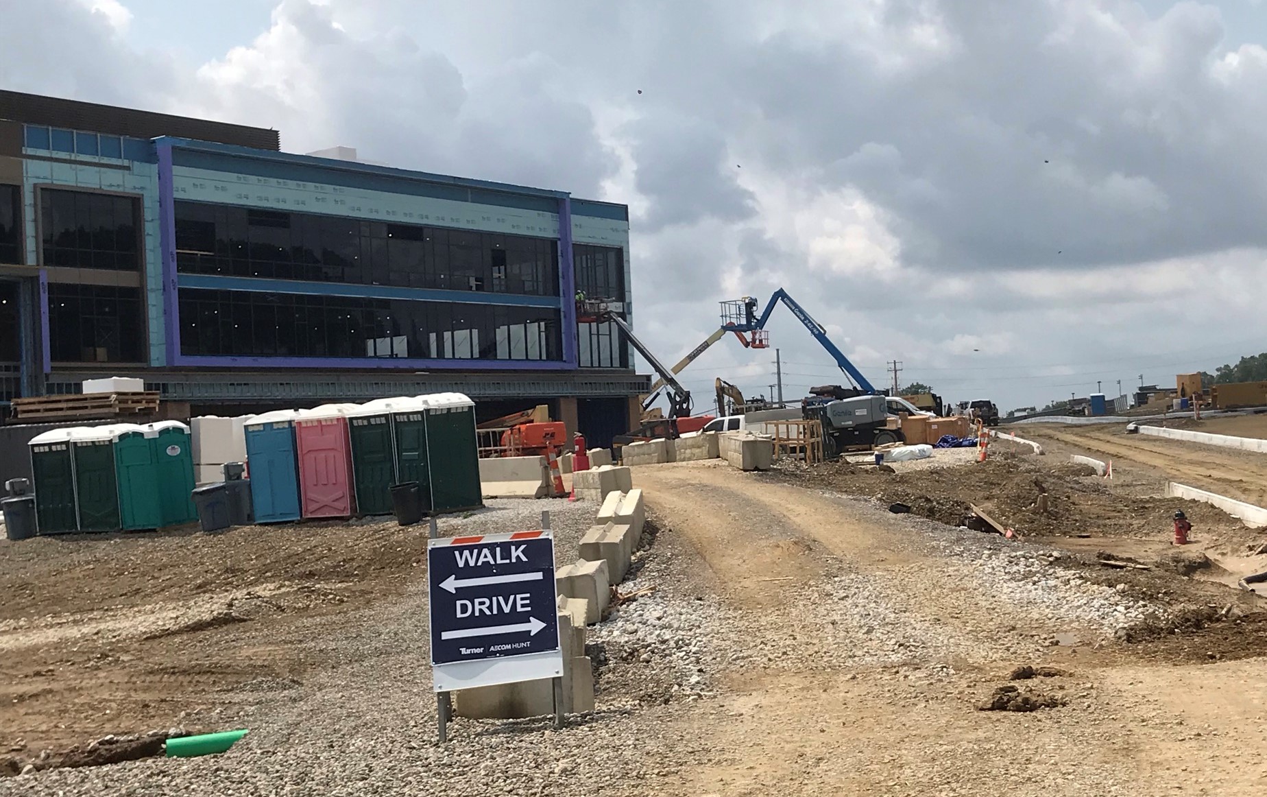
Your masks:
M 251 502 L 257 523 L 299 520 L 298 417 L 298 409 L 279 409 L 255 416 L 243 426 Z

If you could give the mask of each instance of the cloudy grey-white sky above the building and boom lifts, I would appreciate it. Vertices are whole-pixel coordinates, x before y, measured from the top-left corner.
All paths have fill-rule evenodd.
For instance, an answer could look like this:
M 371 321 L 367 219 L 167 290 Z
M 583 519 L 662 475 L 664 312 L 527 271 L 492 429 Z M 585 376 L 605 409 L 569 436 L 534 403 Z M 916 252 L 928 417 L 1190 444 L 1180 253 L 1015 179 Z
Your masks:
M 787 288 L 1002 409 L 1267 351 L 1267 3 L 0 0 L 6 89 L 631 208 L 675 361 Z M 639 94 L 641 91 L 641 94 Z M 784 309 L 784 393 L 843 375 Z M 768 393 L 773 350 L 687 371 Z M 644 366 L 645 367 L 645 366 Z

